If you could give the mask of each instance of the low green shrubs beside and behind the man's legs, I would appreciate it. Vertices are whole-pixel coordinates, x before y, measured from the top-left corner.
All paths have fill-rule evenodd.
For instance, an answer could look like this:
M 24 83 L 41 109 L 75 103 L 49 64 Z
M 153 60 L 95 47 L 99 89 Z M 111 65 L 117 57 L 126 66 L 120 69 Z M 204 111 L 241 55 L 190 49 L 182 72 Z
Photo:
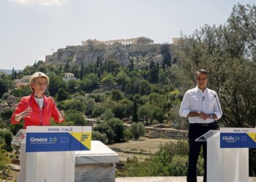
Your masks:
M 124 176 L 184 176 L 188 166 L 187 141 L 169 142 L 159 145 L 155 155 L 144 161 L 134 157 L 124 167 Z M 197 175 L 203 175 L 203 157 L 197 162 Z

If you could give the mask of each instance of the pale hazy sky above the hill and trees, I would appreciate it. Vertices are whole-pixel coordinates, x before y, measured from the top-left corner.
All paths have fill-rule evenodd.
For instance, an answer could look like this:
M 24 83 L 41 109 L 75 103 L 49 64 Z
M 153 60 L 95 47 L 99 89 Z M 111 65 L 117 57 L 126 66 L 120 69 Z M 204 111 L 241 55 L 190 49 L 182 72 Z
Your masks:
M 238 3 L 255 0 L 0 0 L 0 69 L 23 69 L 87 39 L 172 43 L 181 32 L 225 24 Z

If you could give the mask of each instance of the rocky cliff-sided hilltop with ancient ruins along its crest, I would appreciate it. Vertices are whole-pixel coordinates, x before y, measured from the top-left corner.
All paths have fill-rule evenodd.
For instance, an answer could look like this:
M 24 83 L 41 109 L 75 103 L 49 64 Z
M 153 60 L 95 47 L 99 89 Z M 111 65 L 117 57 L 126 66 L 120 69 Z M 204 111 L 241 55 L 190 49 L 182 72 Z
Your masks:
M 148 65 L 151 60 L 162 65 L 162 61 L 173 63 L 170 44 L 154 44 L 146 37 L 134 39 L 116 39 L 98 41 L 89 39 L 78 46 L 67 46 L 45 57 L 45 63 L 67 63 L 87 66 L 89 63 L 104 63 L 106 60 L 116 60 L 122 66 L 127 66 L 134 60 L 137 68 Z

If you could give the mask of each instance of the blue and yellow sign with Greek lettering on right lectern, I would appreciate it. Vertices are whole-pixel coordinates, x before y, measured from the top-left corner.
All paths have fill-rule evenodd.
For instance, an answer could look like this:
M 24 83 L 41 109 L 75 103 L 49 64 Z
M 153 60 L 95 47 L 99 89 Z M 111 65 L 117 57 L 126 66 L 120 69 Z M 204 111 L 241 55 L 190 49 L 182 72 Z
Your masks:
M 220 128 L 220 148 L 256 148 L 256 128 Z

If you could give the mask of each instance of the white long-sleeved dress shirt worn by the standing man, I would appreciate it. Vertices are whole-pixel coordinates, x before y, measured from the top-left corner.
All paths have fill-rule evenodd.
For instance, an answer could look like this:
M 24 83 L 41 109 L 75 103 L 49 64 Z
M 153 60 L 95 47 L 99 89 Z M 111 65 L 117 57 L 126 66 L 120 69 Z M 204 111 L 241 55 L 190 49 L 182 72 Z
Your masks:
M 199 87 L 187 90 L 181 102 L 179 114 L 180 116 L 187 117 L 190 111 L 203 111 L 206 114 L 216 114 L 219 119 L 222 116 L 222 111 L 217 92 L 208 88 L 203 92 Z M 203 120 L 200 119 L 200 116 L 189 116 L 189 123 L 211 122 L 214 122 L 214 119 Z

